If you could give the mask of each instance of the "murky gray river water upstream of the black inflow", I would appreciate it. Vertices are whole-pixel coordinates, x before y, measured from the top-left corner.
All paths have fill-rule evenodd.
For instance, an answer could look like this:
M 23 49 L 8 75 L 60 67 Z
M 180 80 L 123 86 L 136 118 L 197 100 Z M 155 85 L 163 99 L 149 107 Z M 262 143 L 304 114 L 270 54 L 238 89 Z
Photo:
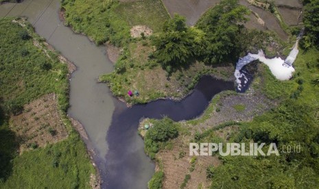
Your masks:
M 106 133 L 112 119 L 114 99 L 97 77 L 113 71 L 105 47 L 96 47 L 82 35 L 64 27 L 58 17 L 59 0 L 25 0 L 0 5 L 0 16 L 26 16 L 36 32 L 73 62 L 78 70 L 71 78 L 69 114 L 84 125 L 99 157 L 105 157 Z

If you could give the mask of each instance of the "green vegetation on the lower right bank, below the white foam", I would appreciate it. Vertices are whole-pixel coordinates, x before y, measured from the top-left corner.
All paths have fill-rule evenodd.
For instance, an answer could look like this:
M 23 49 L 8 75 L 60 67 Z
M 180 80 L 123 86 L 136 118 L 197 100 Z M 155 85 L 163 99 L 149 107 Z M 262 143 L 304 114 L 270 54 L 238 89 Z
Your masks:
M 222 166 L 207 171 L 207 177 L 212 178 L 211 188 L 316 188 L 319 182 L 319 99 L 316 95 L 319 88 L 311 81 L 318 73 L 317 54 L 314 49 L 301 52 L 295 62 L 294 79 L 284 82 L 290 87 L 276 91 L 281 104 L 252 122 L 241 123 L 239 132 L 230 139 L 240 143 L 274 142 L 281 155 L 220 157 Z M 277 85 L 272 80 L 266 84 L 268 87 Z M 297 98 L 287 95 L 295 91 L 299 93 Z M 300 153 L 281 153 L 286 145 L 299 144 Z

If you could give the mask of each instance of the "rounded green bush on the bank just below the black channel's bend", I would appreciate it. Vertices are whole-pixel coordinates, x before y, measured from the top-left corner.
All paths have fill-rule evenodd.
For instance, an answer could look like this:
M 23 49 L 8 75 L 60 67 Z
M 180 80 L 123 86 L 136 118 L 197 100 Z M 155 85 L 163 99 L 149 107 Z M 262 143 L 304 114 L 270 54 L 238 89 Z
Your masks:
M 169 118 L 156 120 L 153 126 L 146 132 L 144 142 L 144 150 L 152 159 L 161 147 L 165 146 L 165 142 L 178 136 L 176 123 Z

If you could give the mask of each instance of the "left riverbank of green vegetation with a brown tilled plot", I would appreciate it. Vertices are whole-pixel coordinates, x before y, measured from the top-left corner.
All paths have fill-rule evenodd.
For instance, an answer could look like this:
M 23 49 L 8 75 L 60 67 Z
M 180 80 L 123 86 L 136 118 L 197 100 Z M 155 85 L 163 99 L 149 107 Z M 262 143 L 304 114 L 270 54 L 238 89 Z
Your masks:
M 66 114 L 75 66 L 25 18 L 1 18 L 0 36 L 0 188 L 99 186 Z

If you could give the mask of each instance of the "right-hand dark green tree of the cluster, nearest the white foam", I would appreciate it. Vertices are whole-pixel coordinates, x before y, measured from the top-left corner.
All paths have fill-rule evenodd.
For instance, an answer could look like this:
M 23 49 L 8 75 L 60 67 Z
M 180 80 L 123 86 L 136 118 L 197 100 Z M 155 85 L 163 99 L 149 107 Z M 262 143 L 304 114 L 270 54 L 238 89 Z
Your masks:
M 200 18 L 196 27 L 205 33 L 201 53 L 204 62 L 220 63 L 230 55 L 238 57 L 239 38 L 249 13 L 237 0 L 223 0 Z

